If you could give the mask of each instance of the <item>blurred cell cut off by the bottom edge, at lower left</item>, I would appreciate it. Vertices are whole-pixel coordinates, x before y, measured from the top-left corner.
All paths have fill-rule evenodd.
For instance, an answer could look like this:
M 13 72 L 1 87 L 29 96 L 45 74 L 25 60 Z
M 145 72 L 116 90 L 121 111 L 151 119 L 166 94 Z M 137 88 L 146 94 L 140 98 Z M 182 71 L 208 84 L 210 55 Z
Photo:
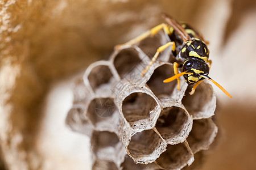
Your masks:
M 92 170 L 118 170 L 117 165 L 114 162 L 109 160 L 100 160 L 97 159 L 92 167 Z

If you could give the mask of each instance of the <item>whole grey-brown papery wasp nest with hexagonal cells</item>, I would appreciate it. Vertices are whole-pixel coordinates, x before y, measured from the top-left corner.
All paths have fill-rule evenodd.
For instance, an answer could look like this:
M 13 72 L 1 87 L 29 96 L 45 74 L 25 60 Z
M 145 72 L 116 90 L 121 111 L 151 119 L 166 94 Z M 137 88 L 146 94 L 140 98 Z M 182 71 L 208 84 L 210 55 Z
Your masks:
M 174 75 L 169 49 L 141 76 L 166 42 L 160 32 L 114 50 L 75 83 L 67 124 L 91 138 L 93 169 L 181 169 L 216 137 L 212 86 L 203 82 L 190 96 L 183 78 L 181 90 L 176 81 L 163 83 Z

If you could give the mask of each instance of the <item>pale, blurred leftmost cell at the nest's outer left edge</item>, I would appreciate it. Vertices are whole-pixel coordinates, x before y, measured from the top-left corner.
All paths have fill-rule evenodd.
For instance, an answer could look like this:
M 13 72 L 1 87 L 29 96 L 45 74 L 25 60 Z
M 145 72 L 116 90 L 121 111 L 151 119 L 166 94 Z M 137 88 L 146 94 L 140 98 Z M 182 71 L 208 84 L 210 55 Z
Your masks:
M 90 136 L 92 126 L 85 117 L 85 105 L 76 104 L 69 110 L 65 120 L 66 124 L 74 131 Z

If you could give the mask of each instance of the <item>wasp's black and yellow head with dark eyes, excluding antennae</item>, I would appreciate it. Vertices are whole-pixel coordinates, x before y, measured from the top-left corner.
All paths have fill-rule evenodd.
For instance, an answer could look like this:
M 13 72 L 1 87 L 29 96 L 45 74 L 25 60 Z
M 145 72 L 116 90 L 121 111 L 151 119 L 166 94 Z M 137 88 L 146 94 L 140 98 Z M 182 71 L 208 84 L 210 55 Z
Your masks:
M 199 59 L 187 59 L 183 64 L 183 71 L 191 73 L 184 75 L 185 81 L 191 85 L 203 79 L 200 75 L 209 74 L 209 66 Z

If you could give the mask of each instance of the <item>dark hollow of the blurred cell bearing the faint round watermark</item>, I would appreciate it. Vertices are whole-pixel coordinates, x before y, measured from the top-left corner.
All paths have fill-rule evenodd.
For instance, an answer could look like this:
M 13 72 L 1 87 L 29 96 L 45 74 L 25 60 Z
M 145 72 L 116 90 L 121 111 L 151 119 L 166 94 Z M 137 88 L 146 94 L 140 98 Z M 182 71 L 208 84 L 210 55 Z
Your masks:
M 96 98 L 90 101 L 87 115 L 94 126 L 113 125 L 112 118 L 117 114 L 118 110 L 114 104 L 113 99 Z

